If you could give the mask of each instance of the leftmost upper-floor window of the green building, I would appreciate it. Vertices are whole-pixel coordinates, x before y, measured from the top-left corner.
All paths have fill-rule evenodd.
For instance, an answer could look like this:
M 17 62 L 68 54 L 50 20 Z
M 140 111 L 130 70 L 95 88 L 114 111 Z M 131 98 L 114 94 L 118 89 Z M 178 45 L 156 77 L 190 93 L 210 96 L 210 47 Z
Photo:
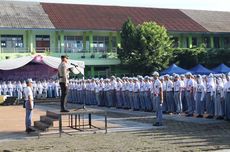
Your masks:
M 1 35 L 2 48 L 22 48 L 23 35 Z

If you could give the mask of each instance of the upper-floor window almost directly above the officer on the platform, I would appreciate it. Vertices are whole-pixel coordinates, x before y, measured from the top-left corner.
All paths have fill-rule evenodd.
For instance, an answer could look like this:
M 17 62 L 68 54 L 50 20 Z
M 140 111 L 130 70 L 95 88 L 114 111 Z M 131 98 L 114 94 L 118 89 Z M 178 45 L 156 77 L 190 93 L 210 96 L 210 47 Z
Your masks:
M 83 51 L 83 36 L 64 36 L 65 52 Z

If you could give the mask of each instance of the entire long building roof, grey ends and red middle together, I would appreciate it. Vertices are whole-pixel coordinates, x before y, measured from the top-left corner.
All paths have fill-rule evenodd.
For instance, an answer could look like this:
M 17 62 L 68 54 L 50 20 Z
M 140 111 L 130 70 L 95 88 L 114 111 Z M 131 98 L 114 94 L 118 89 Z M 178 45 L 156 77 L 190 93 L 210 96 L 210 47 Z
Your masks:
M 0 28 L 120 30 L 155 21 L 170 32 L 230 32 L 230 12 L 1 1 Z

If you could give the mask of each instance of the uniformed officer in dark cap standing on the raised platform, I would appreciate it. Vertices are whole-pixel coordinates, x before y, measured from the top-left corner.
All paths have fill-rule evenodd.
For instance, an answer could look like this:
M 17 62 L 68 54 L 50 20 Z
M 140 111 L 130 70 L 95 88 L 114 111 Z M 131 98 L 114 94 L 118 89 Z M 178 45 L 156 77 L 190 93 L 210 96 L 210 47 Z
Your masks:
M 68 92 L 68 84 L 69 84 L 69 70 L 67 67 L 68 56 L 61 56 L 61 63 L 58 66 L 58 76 L 59 76 L 59 84 L 61 87 L 61 112 L 69 112 L 65 109 L 65 103 L 67 101 L 67 92 Z

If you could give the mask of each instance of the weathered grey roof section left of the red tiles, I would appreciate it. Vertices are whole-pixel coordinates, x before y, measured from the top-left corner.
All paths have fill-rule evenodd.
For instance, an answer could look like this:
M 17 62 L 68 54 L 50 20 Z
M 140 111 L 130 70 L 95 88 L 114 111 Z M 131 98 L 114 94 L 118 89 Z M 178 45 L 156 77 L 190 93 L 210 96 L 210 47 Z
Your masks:
M 55 28 L 40 3 L 1 1 L 0 28 Z

